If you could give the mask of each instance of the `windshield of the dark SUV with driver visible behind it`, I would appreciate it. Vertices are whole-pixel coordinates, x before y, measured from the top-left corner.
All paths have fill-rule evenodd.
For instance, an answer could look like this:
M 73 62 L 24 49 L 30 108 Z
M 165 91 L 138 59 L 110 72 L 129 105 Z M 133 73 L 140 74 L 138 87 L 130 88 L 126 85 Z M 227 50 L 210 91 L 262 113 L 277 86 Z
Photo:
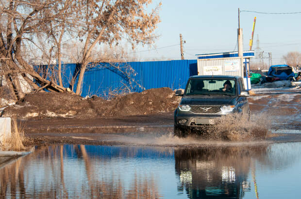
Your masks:
M 190 79 L 186 95 L 235 95 L 233 79 Z

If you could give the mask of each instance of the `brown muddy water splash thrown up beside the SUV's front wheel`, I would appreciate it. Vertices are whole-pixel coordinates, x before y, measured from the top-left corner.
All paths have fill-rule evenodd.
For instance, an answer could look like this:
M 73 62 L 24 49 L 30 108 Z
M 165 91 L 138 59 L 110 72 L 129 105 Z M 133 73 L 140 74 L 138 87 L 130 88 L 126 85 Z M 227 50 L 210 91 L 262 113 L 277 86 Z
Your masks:
M 266 115 L 252 115 L 249 119 L 247 115 L 234 114 L 220 118 L 209 134 L 210 138 L 231 141 L 264 139 L 268 136 L 269 126 L 270 120 Z

